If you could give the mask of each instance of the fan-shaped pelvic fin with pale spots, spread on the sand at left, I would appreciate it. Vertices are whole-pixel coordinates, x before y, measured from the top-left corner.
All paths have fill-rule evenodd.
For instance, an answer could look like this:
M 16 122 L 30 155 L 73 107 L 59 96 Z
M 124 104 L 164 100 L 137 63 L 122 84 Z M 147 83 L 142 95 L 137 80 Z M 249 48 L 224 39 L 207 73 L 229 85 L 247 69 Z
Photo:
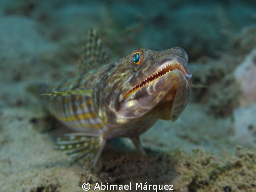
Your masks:
M 55 149 L 65 151 L 68 156 L 78 160 L 86 157 L 93 164 L 97 163 L 106 140 L 102 136 L 89 133 L 69 133 L 57 139 Z

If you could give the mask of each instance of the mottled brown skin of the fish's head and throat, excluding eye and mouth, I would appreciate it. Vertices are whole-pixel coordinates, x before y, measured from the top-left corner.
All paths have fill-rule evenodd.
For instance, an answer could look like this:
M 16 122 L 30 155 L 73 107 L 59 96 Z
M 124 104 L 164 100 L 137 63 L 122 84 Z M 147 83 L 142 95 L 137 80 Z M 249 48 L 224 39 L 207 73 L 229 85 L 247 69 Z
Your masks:
M 132 62 L 136 52 L 141 56 L 138 67 Z M 96 113 L 110 128 L 106 137 L 137 137 L 158 118 L 176 120 L 190 97 L 190 85 L 184 76 L 189 74 L 187 61 L 187 54 L 181 48 L 161 52 L 138 49 L 110 65 L 99 77 L 100 81 L 92 93 Z M 164 63 L 172 63 L 176 69 L 123 98 L 132 87 L 155 74 Z M 167 95 L 169 99 L 164 100 Z M 169 113 L 163 114 L 163 110 Z M 166 115 L 169 117 L 163 117 Z

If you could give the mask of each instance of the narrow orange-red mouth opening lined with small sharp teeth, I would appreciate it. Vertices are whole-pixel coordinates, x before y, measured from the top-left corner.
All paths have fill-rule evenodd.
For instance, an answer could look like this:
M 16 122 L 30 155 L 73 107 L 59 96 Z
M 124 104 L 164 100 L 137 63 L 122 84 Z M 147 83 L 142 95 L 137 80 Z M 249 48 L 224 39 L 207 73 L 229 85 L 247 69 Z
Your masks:
M 126 98 L 128 95 L 130 95 L 132 92 L 137 91 L 138 89 L 146 86 L 152 81 L 155 81 L 156 79 L 160 78 L 161 76 L 166 75 L 167 73 L 173 71 L 174 69 L 180 70 L 180 72 L 186 77 L 187 81 L 191 78 L 192 75 L 187 74 L 185 68 L 180 65 L 180 63 L 166 63 L 163 64 L 158 71 L 156 71 L 151 76 L 147 77 L 143 81 L 141 81 L 139 84 L 134 86 L 131 90 L 129 90 L 127 93 L 125 93 L 124 98 Z

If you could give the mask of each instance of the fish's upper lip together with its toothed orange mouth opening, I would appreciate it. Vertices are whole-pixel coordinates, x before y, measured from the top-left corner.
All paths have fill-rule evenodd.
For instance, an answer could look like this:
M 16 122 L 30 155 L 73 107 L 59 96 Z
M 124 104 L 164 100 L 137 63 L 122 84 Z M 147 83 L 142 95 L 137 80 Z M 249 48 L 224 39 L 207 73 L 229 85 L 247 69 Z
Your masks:
M 184 67 L 185 66 L 185 67 Z M 166 73 L 163 73 L 163 75 L 158 75 L 156 76 L 156 74 L 161 74 L 164 70 L 169 70 Z M 159 80 L 160 78 L 162 78 L 163 76 L 167 75 L 168 73 L 170 73 L 173 70 L 179 70 L 184 77 L 187 79 L 188 84 L 190 85 L 190 79 L 191 79 L 191 74 L 189 74 L 188 68 L 187 68 L 187 61 L 184 60 L 183 58 L 174 58 L 172 60 L 168 60 L 166 62 L 164 62 L 163 64 L 161 64 L 157 70 L 155 72 L 153 72 L 153 74 L 151 74 L 150 76 L 148 76 L 147 78 L 145 78 L 144 80 L 142 80 L 140 83 L 136 84 L 135 86 L 132 87 L 132 89 L 130 89 L 129 91 L 127 91 L 123 96 L 119 97 L 119 102 L 122 102 L 126 97 L 128 97 L 132 92 L 137 92 L 140 88 L 147 86 L 148 84 L 150 84 L 152 81 L 155 80 Z M 152 80 L 149 80 L 150 78 L 153 78 Z M 141 86 L 142 84 L 142 86 Z

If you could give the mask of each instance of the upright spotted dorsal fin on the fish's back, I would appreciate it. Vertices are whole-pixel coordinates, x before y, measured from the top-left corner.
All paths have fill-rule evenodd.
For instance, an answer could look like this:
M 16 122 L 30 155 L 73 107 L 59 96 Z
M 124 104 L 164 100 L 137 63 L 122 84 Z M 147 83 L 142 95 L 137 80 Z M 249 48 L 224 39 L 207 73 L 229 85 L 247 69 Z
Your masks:
M 80 74 L 108 62 L 108 55 L 102 47 L 101 39 L 97 36 L 95 29 L 89 30 L 88 40 L 82 52 L 82 60 L 79 66 Z

